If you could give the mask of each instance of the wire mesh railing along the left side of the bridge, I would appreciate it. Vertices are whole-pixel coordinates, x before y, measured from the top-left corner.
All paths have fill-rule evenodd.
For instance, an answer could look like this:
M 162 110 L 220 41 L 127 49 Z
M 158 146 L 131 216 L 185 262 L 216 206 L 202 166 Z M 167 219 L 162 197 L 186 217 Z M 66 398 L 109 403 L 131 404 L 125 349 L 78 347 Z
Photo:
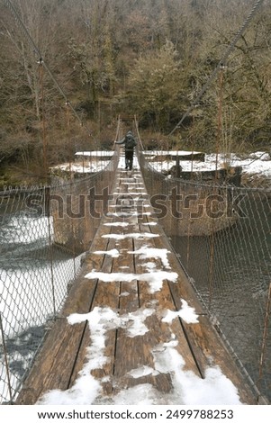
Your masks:
M 0 193 L 0 402 L 13 403 L 106 212 L 103 171 Z

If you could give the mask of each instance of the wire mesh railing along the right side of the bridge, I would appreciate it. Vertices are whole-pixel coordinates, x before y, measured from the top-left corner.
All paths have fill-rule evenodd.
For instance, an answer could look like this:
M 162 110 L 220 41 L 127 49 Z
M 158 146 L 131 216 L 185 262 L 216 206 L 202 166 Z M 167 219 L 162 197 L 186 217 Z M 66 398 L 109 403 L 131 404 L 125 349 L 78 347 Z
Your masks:
M 138 155 L 150 202 L 212 323 L 271 401 L 271 189 L 167 177 Z

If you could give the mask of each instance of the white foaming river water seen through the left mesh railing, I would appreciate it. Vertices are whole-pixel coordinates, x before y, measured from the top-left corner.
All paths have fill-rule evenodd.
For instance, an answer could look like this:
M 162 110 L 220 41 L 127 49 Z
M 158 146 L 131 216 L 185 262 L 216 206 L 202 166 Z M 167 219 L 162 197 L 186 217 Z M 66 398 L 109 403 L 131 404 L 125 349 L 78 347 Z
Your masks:
M 14 391 L 80 267 L 80 257 L 53 245 L 51 223 L 46 216 L 33 218 L 21 211 L 6 215 L 0 227 L 0 312 Z M 4 401 L 6 379 L 0 365 Z

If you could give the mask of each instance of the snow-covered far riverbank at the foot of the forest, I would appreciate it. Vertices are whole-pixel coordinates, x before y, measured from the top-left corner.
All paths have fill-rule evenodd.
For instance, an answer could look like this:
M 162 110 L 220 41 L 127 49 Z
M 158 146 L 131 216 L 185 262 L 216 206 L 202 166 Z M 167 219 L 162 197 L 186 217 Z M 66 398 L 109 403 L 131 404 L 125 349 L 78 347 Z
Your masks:
M 180 156 L 179 164 L 183 172 L 214 171 L 216 166 L 216 155 L 214 153 L 191 155 L 189 151 L 174 152 L 167 150 L 146 150 L 145 153 L 149 164 L 165 175 L 170 175 L 171 169 L 176 166 L 176 159 L 172 159 L 174 155 Z M 190 153 L 190 155 L 187 155 L 187 153 Z M 74 161 L 51 166 L 50 177 L 69 178 L 71 173 L 72 175 L 89 175 L 100 172 L 109 163 L 110 157 L 108 157 L 108 154 L 112 155 L 113 151 L 77 152 Z M 195 159 L 192 160 L 192 157 L 195 157 Z M 241 167 L 242 186 L 252 188 L 269 188 L 271 186 L 270 153 L 257 151 L 251 154 L 219 154 L 217 158 L 218 168 L 220 169 Z M 48 183 L 48 181 L 46 182 Z M 1 169 L 0 191 L 5 191 L 5 188 L 9 186 L 30 186 L 44 183 L 41 169 L 36 169 L 34 166 L 31 170 L 25 170 L 22 166 L 5 166 Z

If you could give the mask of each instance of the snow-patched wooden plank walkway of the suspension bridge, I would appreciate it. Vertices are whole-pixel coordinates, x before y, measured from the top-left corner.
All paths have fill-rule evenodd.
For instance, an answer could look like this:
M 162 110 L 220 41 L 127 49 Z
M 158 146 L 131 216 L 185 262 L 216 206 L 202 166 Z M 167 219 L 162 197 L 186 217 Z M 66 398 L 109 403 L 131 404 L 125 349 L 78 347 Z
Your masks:
M 82 377 L 97 387 L 89 403 L 149 383 L 167 404 L 185 372 L 203 380 L 217 366 L 242 403 L 256 403 L 158 225 L 140 170 L 119 166 L 109 213 L 17 404 L 72 392 Z

